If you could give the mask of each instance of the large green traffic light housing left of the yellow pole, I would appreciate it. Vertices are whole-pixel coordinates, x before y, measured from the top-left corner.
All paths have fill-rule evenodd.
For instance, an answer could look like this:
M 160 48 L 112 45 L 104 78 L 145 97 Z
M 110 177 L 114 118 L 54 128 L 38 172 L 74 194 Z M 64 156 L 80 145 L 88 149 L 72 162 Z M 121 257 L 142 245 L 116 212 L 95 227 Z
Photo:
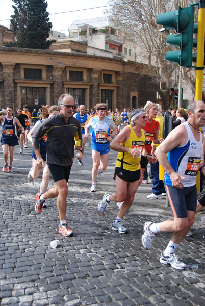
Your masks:
M 165 29 L 175 29 L 177 33 L 167 35 L 167 42 L 180 51 L 168 51 L 166 59 L 180 64 L 180 66 L 192 66 L 192 48 L 194 31 L 194 7 L 178 7 L 178 10 L 162 13 L 157 16 L 157 23 Z

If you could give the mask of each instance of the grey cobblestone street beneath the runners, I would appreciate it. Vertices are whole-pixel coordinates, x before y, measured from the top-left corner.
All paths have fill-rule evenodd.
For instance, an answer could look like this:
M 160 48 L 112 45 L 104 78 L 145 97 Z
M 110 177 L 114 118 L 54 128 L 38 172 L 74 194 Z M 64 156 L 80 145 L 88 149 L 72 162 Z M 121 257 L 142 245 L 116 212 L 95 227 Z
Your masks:
M 34 210 L 41 179 L 27 182 L 31 144 L 22 155 L 19 146 L 15 148 L 13 173 L 1 171 L 1 305 L 205 305 L 204 212 L 196 215 L 193 236 L 185 238 L 176 249 L 180 260 L 197 264 L 198 269 L 181 272 L 162 265 L 160 254 L 171 234 L 158 234 L 150 251 L 143 248 L 141 236 L 145 221 L 170 218 L 165 197 L 148 200 L 152 184 L 142 184 L 123 219 L 129 232 L 113 231 L 112 221 L 119 211 L 116 203 L 111 202 L 104 213 L 97 205 L 106 191 L 115 191 L 117 154 L 111 150 L 108 168 L 92 194 L 92 158 L 87 143 L 84 166 L 74 160 L 69 179 L 67 220 L 74 232 L 70 237 L 58 234 L 56 199 L 48 200 L 41 214 Z M 49 187 L 53 184 L 50 179 Z M 50 241 L 54 239 L 60 244 L 52 249 Z

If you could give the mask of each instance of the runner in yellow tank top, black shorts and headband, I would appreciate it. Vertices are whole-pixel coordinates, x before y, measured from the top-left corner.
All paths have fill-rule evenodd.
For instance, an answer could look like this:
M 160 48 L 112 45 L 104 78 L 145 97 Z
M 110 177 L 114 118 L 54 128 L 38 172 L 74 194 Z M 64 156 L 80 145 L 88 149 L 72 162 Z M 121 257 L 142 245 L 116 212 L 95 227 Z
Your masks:
M 143 109 L 130 112 L 131 124 L 124 129 L 111 142 L 110 147 L 118 151 L 114 179 L 116 180 L 116 192 L 106 192 L 98 204 L 98 210 L 104 212 L 110 201 L 123 202 L 119 214 L 113 221 L 112 229 L 119 233 L 126 233 L 127 229 L 121 224 L 121 220 L 132 205 L 141 178 L 141 155 L 146 156 L 144 147 L 146 131 L 142 129 L 146 125 L 146 113 Z

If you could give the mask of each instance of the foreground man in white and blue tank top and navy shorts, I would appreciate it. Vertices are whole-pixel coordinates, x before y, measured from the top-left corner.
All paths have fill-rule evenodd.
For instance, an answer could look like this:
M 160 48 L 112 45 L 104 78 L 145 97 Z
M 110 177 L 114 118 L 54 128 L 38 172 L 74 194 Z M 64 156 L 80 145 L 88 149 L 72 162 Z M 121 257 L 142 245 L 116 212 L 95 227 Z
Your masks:
M 200 127 L 205 123 L 205 104 L 197 100 L 188 106 L 188 121 L 177 126 L 156 151 L 159 163 L 165 170 L 165 187 L 169 198 L 172 220 L 160 223 L 145 222 L 142 244 L 150 250 L 159 232 L 173 232 L 160 262 L 184 270 L 174 251 L 194 223 L 197 203 L 196 176 L 205 174 L 201 160 L 204 155 L 204 136 Z M 168 153 L 168 158 L 167 154 Z

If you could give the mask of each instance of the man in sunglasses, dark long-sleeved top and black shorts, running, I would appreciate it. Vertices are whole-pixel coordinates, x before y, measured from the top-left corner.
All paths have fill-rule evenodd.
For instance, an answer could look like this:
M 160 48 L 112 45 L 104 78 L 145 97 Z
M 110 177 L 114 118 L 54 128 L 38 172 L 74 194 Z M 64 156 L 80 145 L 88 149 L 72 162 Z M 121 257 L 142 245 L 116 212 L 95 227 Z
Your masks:
M 68 193 L 67 182 L 72 166 L 73 148 L 76 145 L 78 159 L 83 158 L 81 124 L 72 116 L 74 98 L 63 94 L 58 101 L 60 113 L 45 120 L 34 133 L 33 146 L 37 157 L 37 168 L 43 169 L 44 161 L 40 155 L 39 139 L 47 134 L 46 152 L 47 165 L 52 173 L 55 187 L 44 194 L 36 194 L 35 210 L 41 213 L 43 203 L 48 198 L 57 197 L 57 207 L 60 217 L 59 233 L 69 236 L 73 232 L 66 221 L 66 197 Z

